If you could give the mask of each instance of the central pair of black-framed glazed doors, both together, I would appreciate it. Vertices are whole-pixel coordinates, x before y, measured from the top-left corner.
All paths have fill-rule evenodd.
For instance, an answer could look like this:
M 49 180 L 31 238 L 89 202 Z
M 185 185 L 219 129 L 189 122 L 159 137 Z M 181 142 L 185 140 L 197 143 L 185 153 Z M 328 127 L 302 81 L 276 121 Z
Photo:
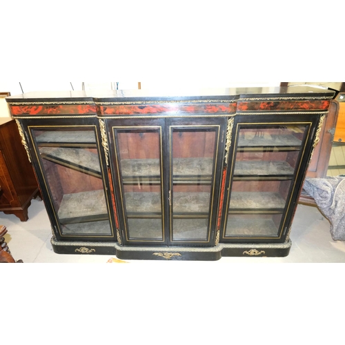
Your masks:
M 124 244 L 212 245 L 221 120 L 107 122 Z

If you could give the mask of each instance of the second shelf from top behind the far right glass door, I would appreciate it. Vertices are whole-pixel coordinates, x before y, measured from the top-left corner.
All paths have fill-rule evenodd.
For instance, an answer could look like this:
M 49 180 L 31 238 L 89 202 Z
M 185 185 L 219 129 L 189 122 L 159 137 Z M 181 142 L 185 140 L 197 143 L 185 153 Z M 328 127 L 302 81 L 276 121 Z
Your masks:
M 286 161 L 236 161 L 234 177 L 293 177 L 293 173 Z

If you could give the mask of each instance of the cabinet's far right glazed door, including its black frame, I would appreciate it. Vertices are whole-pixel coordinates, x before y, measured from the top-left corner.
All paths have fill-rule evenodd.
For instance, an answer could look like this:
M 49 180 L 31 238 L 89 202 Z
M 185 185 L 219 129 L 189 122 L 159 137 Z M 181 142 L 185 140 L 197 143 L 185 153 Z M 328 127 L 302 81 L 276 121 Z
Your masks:
M 316 118 L 309 119 L 285 119 L 284 124 L 235 120 L 221 242 L 284 240 L 311 146 Z

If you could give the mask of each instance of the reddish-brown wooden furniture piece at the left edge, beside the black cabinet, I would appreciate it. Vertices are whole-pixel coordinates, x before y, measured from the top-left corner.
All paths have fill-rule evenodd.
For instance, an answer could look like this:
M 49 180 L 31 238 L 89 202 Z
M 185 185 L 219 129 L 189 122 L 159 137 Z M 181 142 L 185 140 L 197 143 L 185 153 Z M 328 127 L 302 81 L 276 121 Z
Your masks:
M 27 221 L 32 198 L 41 194 L 17 124 L 10 117 L 0 117 L 0 185 L 0 211 Z

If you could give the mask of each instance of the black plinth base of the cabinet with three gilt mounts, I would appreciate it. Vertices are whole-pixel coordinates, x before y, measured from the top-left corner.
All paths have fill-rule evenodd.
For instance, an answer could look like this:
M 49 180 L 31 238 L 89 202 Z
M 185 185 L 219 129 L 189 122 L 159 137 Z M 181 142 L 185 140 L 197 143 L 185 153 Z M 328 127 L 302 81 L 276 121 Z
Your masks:
M 51 239 L 58 254 L 116 255 L 119 259 L 215 261 L 221 257 L 286 257 L 290 239 L 282 244 L 219 244 L 215 247 L 137 247 L 117 242 L 65 242 Z

